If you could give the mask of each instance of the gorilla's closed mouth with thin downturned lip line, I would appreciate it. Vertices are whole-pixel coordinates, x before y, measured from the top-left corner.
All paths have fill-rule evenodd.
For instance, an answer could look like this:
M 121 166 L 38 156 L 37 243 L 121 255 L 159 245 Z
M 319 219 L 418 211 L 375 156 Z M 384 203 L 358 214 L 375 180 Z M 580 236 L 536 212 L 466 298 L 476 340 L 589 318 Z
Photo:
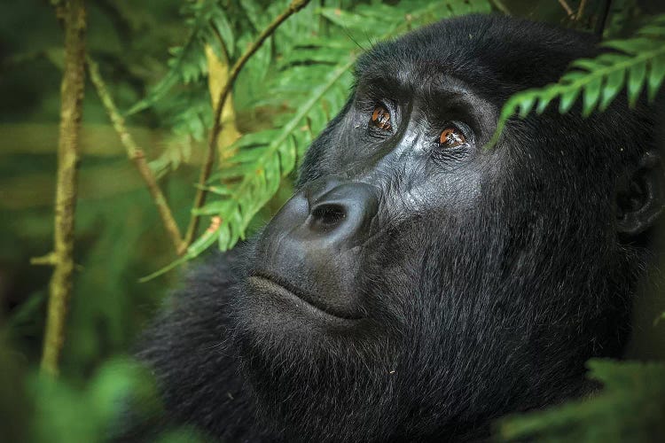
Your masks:
M 352 322 L 360 320 L 361 318 L 359 316 L 342 315 L 329 307 L 325 307 L 322 304 L 317 303 L 317 296 L 302 291 L 301 288 L 290 284 L 285 279 L 267 272 L 254 271 L 247 278 L 247 281 L 262 291 L 278 294 L 283 299 L 287 299 L 292 303 L 295 302 L 301 307 L 304 307 L 309 313 L 324 316 L 329 320 Z

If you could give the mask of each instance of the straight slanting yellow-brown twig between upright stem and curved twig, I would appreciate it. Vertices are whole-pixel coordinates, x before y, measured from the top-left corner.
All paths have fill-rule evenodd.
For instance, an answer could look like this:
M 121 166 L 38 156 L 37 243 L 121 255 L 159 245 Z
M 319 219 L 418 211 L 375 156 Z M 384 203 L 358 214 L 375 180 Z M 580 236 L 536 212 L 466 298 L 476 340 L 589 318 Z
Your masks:
M 176 248 L 177 252 L 182 247 L 183 237 L 180 235 L 180 229 L 178 229 L 176 219 L 173 217 L 171 208 L 168 206 L 167 199 L 164 197 L 164 193 L 161 191 L 160 185 L 157 183 L 153 170 L 145 160 L 144 151 L 136 144 L 131 134 L 129 134 L 129 131 L 125 126 L 125 120 L 122 118 L 121 113 L 118 111 L 118 107 L 113 102 L 113 97 L 111 97 L 108 89 L 106 89 L 106 82 L 104 82 L 101 74 L 99 74 L 98 64 L 90 57 L 86 59 L 88 63 L 88 71 L 90 72 L 90 81 L 95 86 L 95 89 L 97 89 L 97 94 L 106 109 L 108 117 L 111 119 L 115 132 L 120 136 L 121 144 L 125 147 L 127 156 L 134 162 L 138 173 L 141 175 L 145 185 L 150 191 L 153 202 L 160 213 L 164 229 L 166 229 L 168 237 L 170 237 L 171 243 L 174 248 Z

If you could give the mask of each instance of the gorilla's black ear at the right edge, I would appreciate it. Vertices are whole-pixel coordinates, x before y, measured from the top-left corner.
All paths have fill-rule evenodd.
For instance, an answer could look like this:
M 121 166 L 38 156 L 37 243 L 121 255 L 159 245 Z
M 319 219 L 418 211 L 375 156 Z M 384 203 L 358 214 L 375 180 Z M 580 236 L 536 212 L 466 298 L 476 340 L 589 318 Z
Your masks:
M 617 230 L 635 236 L 650 228 L 665 206 L 665 172 L 661 156 L 646 152 L 637 168 L 619 183 Z

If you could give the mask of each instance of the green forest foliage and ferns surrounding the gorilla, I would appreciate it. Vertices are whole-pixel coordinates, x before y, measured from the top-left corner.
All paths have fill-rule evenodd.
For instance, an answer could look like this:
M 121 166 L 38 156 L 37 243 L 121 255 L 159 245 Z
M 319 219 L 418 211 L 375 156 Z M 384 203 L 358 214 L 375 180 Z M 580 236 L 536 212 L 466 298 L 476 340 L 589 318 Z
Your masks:
M 576 105 L 588 116 L 603 112 L 621 94 L 630 105 L 640 97 L 653 101 L 665 78 L 665 15 L 647 12 L 663 11 L 649 9 L 648 1 L 617 0 L 601 20 L 604 1 L 563 2 L 573 14 L 560 3 L 304 2 L 241 65 L 239 60 L 289 2 L 89 3 L 87 55 L 98 64 L 111 105 L 99 84 L 86 84 L 74 253 L 78 270 L 59 379 L 34 370 L 49 269 L 30 267 L 27 261 L 51 243 L 52 146 L 65 66 L 62 31 L 51 6 L 18 0 L 4 5 L 0 92 L 7 99 L 0 134 L 7 128 L 10 136 L 0 142 L 7 146 L 0 189 L 4 185 L 9 191 L 0 194 L 0 208 L 11 216 L 0 228 L 11 238 L 0 243 L 0 263 L 7 263 L 0 276 L 8 276 L 11 284 L 0 289 L 7 312 L 0 346 L 0 368 L 6 373 L 0 380 L 0 416 L 12 419 L 0 424 L 0 434 L 15 441 L 103 440 L 123 401 L 153 397 L 150 377 L 134 363 L 115 358 L 127 352 L 175 273 L 152 278 L 186 267 L 211 246 L 231 248 L 274 213 L 289 196 L 308 145 L 344 105 L 356 58 L 373 43 L 471 12 L 600 29 L 608 51 L 576 60 L 559 82 L 511 97 L 488 148 L 512 119 L 543 113 L 548 106 L 567 113 Z M 17 26 L 27 19 L 34 26 Z M 234 67 L 239 74 L 227 103 L 220 105 L 223 84 L 218 79 L 228 81 Z M 212 136 L 215 131 L 218 137 Z M 153 175 L 163 201 L 145 191 L 137 171 L 126 166 L 127 154 L 138 163 L 145 160 L 144 173 Z M 169 245 L 174 242 L 155 203 L 168 206 L 177 245 Z M 196 229 L 199 221 L 207 229 Z M 146 275 L 151 280 L 138 284 Z M 653 323 L 658 323 L 656 315 Z M 662 318 L 665 323 L 665 313 Z M 655 329 L 653 323 L 662 334 L 662 324 Z M 497 421 L 497 439 L 665 438 L 665 366 L 588 364 L 589 377 L 605 386 L 597 395 L 505 417 Z M 164 436 L 164 441 L 178 440 L 192 441 L 192 436 L 184 431 Z

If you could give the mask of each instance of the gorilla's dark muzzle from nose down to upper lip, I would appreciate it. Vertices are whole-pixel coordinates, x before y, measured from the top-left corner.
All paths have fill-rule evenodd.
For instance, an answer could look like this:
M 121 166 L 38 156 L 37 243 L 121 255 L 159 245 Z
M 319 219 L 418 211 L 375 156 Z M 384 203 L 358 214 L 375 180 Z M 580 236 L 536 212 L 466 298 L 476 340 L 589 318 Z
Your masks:
M 270 221 L 257 243 L 254 275 L 281 284 L 328 314 L 360 316 L 360 253 L 377 214 L 377 191 L 364 183 L 310 183 Z

